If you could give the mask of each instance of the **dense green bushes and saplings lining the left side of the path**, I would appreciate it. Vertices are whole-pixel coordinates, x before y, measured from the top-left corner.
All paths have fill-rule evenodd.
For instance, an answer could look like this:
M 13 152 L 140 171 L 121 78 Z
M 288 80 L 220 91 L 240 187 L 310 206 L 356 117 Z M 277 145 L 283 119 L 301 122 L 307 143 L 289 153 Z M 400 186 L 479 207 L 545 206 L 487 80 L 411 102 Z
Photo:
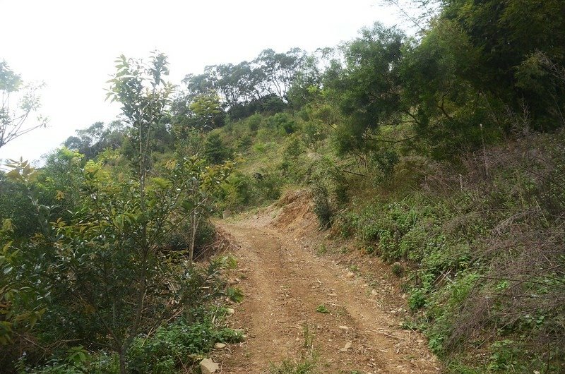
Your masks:
M 206 217 L 233 164 L 224 162 L 217 133 L 204 147 L 208 159 L 156 152 L 172 90 L 162 79 L 164 55 L 150 64 L 120 56 L 117 68 L 109 96 L 131 130 L 119 150 L 85 162 L 63 147 L 42 169 L 13 162 L 0 179 L 0 366 L 7 372 L 172 373 L 179 361 L 162 350 L 201 353 L 230 337 L 209 320 L 221 296 L 241 299 L 222 277 L 234 262 L 197 265 L 194 254 L 213 238 Z M 98 136 L 102 128 L 89 131 Z M 196 136 L 179 151 L 194 150 L 192 140 L 201 138 L 189 135 Z M 166 322 L 179 315 L 182 333 Z

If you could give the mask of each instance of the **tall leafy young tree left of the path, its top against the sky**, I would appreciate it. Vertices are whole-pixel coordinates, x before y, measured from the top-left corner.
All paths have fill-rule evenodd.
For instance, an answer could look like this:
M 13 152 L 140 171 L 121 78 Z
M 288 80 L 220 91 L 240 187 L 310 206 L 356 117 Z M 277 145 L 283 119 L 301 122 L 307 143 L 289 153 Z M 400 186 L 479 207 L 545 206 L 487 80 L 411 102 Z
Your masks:
M 37 323 L 48 326 L 54 337 L 64 332 L 91 349 L 115 351 L 120 372 L 126 373 L 127 352 L 138 334 L 150 332 L 183 308 L 194 308 L 184 304 L 198 299 L 201 290 L 194 287 L 212 282 L 206 294 L 218 294 L 217 266 L 201 270 L 192 260 L 196 231 L 232 164 L 208 167 L 196 156 L 178 157 L 159 171 L 153 169 L 150 143 L 172 91 L 163 80 L 167 60 L 155 54 L 145 64 L 121 56 L 117 68 L 109 97 L 122 104 L 133 129 L 130 141 L 136 151 L 130 174 L 95 160 L 72 162 L 76 152 L 63 149 L 59 158 L 70 161 L 58 163 L 64 170 L 56 174 L 73 174 L 69 188 L 76 188 L 77 194 L 64 218 L 33 191 L 38 173 L 28 163 L 14 164 L 7 174 L 30 191 L 40 230 L 32 240 L 16 243 L 9 238 L 10 221 L 5 221 L 0 266 L 8 279 L 0 284 L 0 299 L 9 306 L 0 310 L 5 315 L 0 342 L 8 342 L 16 320 L 31 325 L 42 317 Z M 46 191 L 53 189 L 49 180 L 42 182 Z M 57 188 L 56 199 L 65 205 L 69 191 L 60 183 L 51 184 Z M 186 221 L 192 229 L 187 260 L 185 252 L 168 253 L 163 246 Z

